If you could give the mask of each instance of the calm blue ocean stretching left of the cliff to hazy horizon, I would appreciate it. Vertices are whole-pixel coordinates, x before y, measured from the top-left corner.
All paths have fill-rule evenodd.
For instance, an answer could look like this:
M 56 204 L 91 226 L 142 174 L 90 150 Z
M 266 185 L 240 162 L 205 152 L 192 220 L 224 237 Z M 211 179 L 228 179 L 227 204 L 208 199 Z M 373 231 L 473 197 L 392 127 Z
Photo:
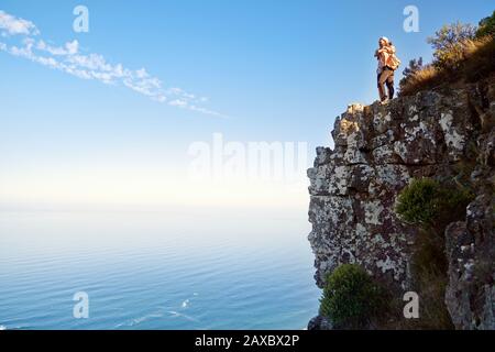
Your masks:
M 3 211 L 0 329 L 304 329 L 308 232 L 305 211 Z

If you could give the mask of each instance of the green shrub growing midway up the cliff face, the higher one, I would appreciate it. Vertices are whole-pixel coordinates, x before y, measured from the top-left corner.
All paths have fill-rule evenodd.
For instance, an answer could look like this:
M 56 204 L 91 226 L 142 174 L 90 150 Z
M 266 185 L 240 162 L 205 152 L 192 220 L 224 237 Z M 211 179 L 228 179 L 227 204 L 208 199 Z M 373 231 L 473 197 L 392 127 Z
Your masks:
M 446 186 L 431 178 L 414 179 L 397 198 L 395 212 L 409 224 L 430 227 L 460 219 L 472 194 L 458 186 Z M 442 231 L 443 232 L 443 231 Z

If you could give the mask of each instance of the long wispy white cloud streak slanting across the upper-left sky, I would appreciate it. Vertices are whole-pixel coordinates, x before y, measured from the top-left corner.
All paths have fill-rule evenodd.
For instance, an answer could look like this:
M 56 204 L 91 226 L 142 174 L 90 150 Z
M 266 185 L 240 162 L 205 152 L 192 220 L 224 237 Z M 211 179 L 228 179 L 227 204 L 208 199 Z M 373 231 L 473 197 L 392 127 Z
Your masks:
M 94 79 L 107 85 L 122 85 L 161 103 L 187 109 L 198 113 L 227 118 L 204 105 L 206 97 L 182 88 L 164 87 L 162 80 L 150 75 L 145 68 L 129 69 L 122 64 L 110 64 L 103 55 L 81 53 L 79 42 L 74 40 L 63 45 L 52 45 L 41 38 L 36 25 L 0 10 L 0 51 L 30 59 L 40 65 L 64 72 L 80 79 Z M 13 42 L 13 43 L 12 43 Z

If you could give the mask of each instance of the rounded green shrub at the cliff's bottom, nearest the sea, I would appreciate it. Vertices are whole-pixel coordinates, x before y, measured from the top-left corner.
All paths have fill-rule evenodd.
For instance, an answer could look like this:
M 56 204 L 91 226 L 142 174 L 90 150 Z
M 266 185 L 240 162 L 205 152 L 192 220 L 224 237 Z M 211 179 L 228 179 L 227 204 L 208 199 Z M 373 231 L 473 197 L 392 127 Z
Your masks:
M 359 265 L 344 264 L 328 275 L 320 315 L 338 328 L 359 329 L 385 310 L 384 290 Z

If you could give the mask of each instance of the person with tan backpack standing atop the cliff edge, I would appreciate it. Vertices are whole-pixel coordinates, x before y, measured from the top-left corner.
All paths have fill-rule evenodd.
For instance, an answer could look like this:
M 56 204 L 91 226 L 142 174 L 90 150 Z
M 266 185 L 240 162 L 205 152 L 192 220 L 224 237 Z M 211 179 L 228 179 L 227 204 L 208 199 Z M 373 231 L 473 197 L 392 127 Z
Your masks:
M 378 59 L 377 69 L 377 82 L 378 82 L 378 94 L 380 100 L 385 102 L 387 100 L 387 95 L 385 94 L 386 84 L 388 90 L 388 99 L 394 98 L 394 72 L 400 64 L 397 56 L 395 56 L 395 46 L 392 42 L 382 36 L 378 41 L 378 50 L 375 52 L 375 57 Z

